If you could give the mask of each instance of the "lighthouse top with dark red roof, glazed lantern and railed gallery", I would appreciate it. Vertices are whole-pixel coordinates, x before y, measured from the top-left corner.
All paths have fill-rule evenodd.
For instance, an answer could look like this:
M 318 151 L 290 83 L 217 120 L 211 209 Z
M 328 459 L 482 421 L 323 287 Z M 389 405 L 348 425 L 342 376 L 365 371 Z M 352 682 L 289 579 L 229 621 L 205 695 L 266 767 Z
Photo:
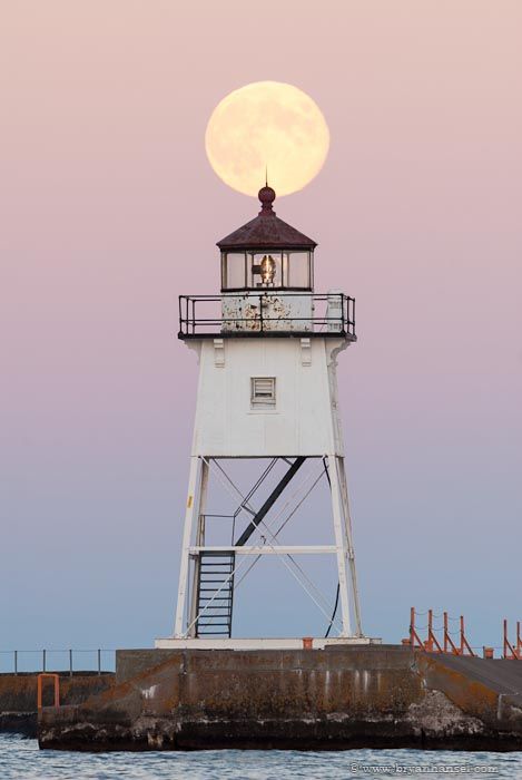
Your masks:
M 276 216 L 265 185 L 258 215 L 221 241 L 219 295 L 180 295 L 179 338 L 338 335 L 355 341 L 354 300 L 314 292 L 317 243 Z

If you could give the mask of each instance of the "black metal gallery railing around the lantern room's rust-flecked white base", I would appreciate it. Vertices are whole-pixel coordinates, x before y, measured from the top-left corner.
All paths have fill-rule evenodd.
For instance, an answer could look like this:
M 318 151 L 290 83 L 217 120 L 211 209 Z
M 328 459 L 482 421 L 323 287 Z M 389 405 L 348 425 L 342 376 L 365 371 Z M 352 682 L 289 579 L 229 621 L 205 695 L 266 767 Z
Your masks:
M 180 339 L 288 334 L 355 341 L 355 299 L 284 291 L 179 296 Z

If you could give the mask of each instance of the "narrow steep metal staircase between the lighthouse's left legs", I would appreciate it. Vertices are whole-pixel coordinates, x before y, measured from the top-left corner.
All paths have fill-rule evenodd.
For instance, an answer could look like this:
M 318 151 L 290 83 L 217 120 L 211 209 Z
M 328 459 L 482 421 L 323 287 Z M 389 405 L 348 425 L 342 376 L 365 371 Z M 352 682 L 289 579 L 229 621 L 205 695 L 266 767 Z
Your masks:
M 235 565 L 235 553 L 199 554 L 196 636 L 230 636 Z

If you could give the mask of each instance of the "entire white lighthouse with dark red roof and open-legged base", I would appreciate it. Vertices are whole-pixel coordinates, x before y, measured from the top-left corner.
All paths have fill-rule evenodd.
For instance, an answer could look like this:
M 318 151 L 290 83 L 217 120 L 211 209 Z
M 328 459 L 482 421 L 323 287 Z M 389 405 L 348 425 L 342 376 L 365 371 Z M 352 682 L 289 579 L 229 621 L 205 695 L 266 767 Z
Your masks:
M 355 302 L 314 291 L 316 242 L 276 216 L 275 197 L 263 187 L 258 216 L 218 242 L 220 295 L 180 298 L 179 338 L 198 355 L 199 382 L 174 634 L 157 647 L 302 646 L 302 637 L 234 632 L 235 589 L 265 555 L 279 556 L 331 617 L 327 637 L 308 645 L 371 642 L 361 624 L 336 378 L 339 354 L 356 340 Z M 247 493 L 230 477 L 237 459 L 257 468 Z M 302 479 L 305 464 L 316 470 Z M 321 476 L 333 544 L 282 544 L 285 519 Z M 210 514 L 214 480 L 236 503 L 227 516 Z M 314 554 L 329 554 L 336 569 L 335 620 L 297 560 Z

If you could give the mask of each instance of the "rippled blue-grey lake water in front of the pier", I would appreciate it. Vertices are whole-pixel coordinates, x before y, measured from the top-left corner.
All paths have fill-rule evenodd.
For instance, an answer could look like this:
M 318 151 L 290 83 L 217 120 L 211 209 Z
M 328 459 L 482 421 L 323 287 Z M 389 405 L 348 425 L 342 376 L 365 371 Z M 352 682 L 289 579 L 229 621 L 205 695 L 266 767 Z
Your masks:
M 67 753 L 0 734 L 0 780 L 348 780 L 370 777 L 522 779 L 522 752 L 209 750 Z

